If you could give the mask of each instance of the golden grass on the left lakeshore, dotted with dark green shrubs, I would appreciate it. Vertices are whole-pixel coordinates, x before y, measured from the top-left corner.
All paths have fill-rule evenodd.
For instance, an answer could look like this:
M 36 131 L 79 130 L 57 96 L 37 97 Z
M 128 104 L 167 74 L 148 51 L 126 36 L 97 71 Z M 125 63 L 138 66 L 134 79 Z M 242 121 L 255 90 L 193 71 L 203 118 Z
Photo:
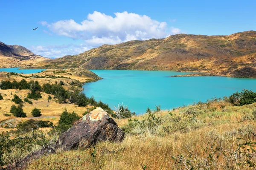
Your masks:
M 53 72 L 55 71 L 55 72 Z M 70 75 L 71 74 L 71 75 Z M 21 79 L 26 79 L 27 82 L 30 80 L 38 81 L 39 84 L 42 86 L 44 83 L 50 83 L 50 84 L 55 84 L 55 81 L 59 83 L 61 80 L 64 82 L 64 88 L 69 89 L 72 86 L 69 84 L 71 81 L 76 82 L 77 84 L 82 84 L 82 82 L 93 82 L 98 79 L 101 79 L 98 77 L 96 74 L 94 74 L 91 71 L 81 69 L 81 68 L 76 68 L 76 69 L 67 69 L 67 70 L 62 70 L 62 69 L 55 69 L 55 70 L 46 70 L 41 73 L 36 73 L 36 74 L 20 74 L 23 76 L 27 76 L 29 78 L 24 78 L 16 75 L 8 75 L 7 72 L 1 72 L 0 73 L 0 81 L 1 80 L 9 80 L 9 81 L 20 81 Z M 54 75 L 55 77 L 58 76 L 63 76 L 62 78 L 49 78 L 44 77 L 44 78 L 34 78 L 36 76 L 46 76 L 46 75 Z M 76 86 L 75 86 L 76 87 Z M 79 87 L 76 87 L 79 88 Z M 81 89 L 81 88 L 80 88 Z M 15 118 L 14 116 L 4 116 L 4 113 L 9 113 L 10 108 L 12 105 L 15 103 L 12 102 L 12 98 L 14 94 L 17 94 L 17 96 L 20 96 L 20 98 L 23 100 L 26 98 L 29 90 L 15 90 L 15 89 L 9 89 L 9 90 L 0 90 L 0 94 L 3 96 L 3 100 L 0 100 L 0 122 L 7 120 L 7 119 L 13 119 Z M 11 94 L 12 93 L 12 94 Z M 37 101 L 32 99 L 33 104 L 30 105 L 29 103 L 24 102 L 23 105 L 23 110 L 25 113 L 27 113 L 28 117 L 32 117 L 31 111 L 33 108 L 39 108 L 41 109 L 42 116 L 60 116 L 64 108 L 67 108 L 68 111 L 75 111 L 76 113 L 79 114 L 79 116 L 82 116 L 82 113 L 87 110 L 85 107 L 79 107 L 79 109 L 76 108 L 75 104 L 60 104 L 54 99 L 52 99 L 51 102 L 47 101 L 47 97 L 49 94 L 45 94 L 41 92 L 41 95 L 43 98 L 38 99 Z M 53 97 L 53 95 L 51 95 Z M 47 106 L 48 105 L 48 106 Z M 26 118 L 20 118 L 20 119 L 26 119 Z

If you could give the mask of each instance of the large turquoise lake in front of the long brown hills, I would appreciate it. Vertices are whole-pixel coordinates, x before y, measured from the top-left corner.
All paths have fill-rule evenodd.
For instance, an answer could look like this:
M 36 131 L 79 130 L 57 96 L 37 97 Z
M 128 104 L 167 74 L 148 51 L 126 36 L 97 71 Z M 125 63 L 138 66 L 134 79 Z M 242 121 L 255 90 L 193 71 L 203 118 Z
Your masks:
M 212 97 L 229 96 L 236 91 L 256 91 L 256 79 L 230 77 L 169 77 L 187 74 L 175 71 L 91 70 L 102 80 L 86 83 L 84 93 L 107 103 L 128 105 L 137 114 L 161 105 L 162 109 L 206 102 Z

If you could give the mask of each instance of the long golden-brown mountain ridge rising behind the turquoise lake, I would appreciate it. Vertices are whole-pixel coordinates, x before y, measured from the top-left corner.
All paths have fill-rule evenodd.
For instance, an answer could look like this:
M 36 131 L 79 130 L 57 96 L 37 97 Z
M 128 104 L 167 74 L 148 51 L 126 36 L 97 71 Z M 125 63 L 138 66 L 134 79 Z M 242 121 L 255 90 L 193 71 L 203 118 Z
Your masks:
M 165 39 L 102 45 L 36 68 L 174 70 L 256 77 L 256 31 L 227 36 L 176 34 Z

